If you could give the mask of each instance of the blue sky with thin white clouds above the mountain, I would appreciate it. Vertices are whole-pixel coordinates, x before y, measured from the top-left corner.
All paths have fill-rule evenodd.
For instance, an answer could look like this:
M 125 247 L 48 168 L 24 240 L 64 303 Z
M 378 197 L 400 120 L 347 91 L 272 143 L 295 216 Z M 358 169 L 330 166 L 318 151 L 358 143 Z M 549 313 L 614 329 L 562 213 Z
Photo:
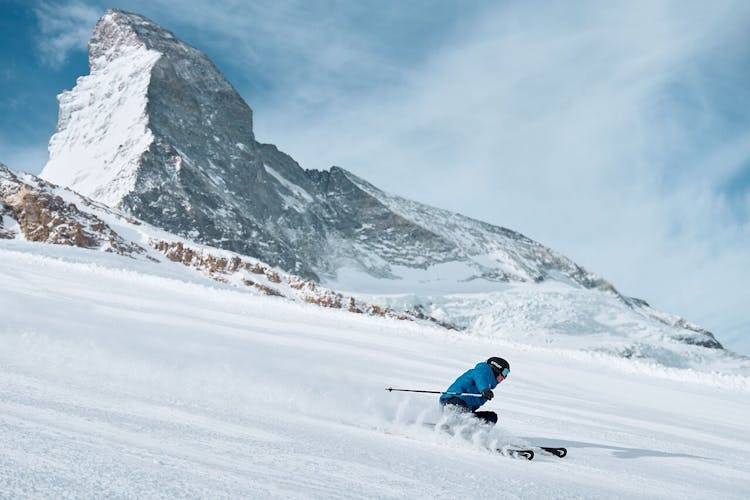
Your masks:
M 41 171 L 107 7 L 204 51 L 305 168 L 520 231 L 750 354 L 750 3 L 0 0 L 0 161 Z

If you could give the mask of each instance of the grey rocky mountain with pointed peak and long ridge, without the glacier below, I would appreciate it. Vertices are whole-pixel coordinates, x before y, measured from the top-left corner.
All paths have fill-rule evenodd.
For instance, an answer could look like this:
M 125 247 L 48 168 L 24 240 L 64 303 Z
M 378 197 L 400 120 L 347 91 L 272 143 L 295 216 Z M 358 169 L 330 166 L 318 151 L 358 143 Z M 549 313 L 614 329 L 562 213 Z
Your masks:
M 58 97 L 41 174 L 51 182 L 318 282 L 344 269 L 396 282 L 450 266 L 460 283 L 562 280 L 675 321 L 517 232 L 388 195 L 342 168 L 303 169 L 255 140 L 252 110 L 203 53 L 140 15 L 107 11 L 89 63 Z M 686 342 L 721 347 L 684 328 Z

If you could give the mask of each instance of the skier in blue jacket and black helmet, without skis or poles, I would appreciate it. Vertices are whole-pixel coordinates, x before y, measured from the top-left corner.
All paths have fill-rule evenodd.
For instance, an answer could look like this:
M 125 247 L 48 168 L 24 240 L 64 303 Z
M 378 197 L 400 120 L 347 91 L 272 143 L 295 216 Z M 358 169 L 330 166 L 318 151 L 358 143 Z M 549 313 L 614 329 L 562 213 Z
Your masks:
M 505 380 L 510 373 L 510 364 L 503 358 L 492 357 L 478 363 L 456 379 L 446 392 L 472 393 L 482 396 L 455 396 L 443 394 L 440 404 L 443 408 L 452 408 L 461 412 L 470 412 L 473 416 L 487 423 L 497 423 L 494 411 L 477 411 L 480 406 L 495 397 L 492 389 Z

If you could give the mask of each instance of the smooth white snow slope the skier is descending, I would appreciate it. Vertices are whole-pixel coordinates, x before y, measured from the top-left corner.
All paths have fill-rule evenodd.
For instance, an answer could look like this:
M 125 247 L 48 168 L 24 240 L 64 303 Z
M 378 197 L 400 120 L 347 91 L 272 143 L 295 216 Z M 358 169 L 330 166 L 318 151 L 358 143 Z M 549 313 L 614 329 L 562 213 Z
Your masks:
M 383 390 L 491 355 L 491 431 Z M 486 449 L 509 442 L 569 456 Z M 750 385 L 0 241 L 0 445 L 0 497 L 750 498 Z

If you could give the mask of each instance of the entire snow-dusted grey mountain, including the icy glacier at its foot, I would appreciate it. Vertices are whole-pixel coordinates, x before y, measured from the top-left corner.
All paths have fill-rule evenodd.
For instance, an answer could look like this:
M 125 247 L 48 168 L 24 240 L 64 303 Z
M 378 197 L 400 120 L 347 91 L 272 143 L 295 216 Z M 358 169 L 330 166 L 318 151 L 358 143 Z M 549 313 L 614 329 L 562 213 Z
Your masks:
M 140 15 L 107 11 L 89 58 L 90 74 L 59 96 L 41 176 L 183 245 L 481 335 L 586 336 L 591 349 L 672 364 L 722 349 L 518 232 L 384 193 L 343 168 L 303 169 L 255 140 L 252 110 L 204 54 Z M 529 317 L 545 320 L 529 328 Z

